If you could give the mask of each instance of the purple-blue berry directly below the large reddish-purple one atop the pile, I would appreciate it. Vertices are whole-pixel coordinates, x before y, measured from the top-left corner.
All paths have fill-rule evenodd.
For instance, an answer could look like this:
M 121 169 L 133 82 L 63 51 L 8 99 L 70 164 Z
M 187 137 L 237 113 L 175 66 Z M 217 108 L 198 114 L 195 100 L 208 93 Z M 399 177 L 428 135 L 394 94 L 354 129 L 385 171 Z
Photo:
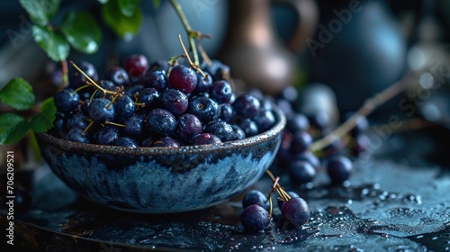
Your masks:
M 186 112 L 189 104 L 186 94 L 173 88 L 164 90 L 158 101 L 161 108 L 166 109 L 175 116 Z

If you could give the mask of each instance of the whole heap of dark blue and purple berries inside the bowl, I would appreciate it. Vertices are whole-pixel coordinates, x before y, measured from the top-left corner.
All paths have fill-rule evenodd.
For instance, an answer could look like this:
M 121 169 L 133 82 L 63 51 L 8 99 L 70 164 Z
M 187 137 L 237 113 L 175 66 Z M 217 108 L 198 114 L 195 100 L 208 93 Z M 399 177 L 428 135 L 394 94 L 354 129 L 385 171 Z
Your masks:
M 218 144 L 276 122 L 273 108 L 256 96 L 233 92 L 229 67 L 220 61 L 195 70 L 132 55 L 102 80 L 92 64 L 78 65 L 54 96 L 52 132 L 64 139 L 131 148 Z

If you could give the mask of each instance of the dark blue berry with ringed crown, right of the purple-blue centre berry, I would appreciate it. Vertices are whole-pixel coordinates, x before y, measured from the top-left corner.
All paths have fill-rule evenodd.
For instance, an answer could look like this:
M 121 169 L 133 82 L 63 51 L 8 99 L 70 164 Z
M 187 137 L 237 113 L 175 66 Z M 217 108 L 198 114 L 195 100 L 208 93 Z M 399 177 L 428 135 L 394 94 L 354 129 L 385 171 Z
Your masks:
M 194 114 L 206 124 L 218 118 L 219 105 L 209 97 L 196 96 L 189 101 L 187 112 Z

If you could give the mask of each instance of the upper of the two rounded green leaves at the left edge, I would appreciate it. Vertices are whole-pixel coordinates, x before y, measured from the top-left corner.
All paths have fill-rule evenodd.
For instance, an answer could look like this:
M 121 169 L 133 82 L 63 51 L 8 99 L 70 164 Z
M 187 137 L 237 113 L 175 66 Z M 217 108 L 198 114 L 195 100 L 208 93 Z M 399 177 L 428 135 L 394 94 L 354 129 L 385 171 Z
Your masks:
M 14 77 L 0 90 L 0 102 L 17 110 L 30 109 L 34 99 L 31 85 L 21 77 Z

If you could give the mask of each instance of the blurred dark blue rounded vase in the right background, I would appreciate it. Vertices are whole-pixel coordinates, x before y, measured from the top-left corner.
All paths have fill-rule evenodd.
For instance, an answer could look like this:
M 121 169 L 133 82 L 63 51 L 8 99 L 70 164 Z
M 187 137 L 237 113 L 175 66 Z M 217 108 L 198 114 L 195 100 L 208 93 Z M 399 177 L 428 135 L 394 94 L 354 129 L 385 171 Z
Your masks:
M 340 111 L 355 111 L 401 78 L 406 40 L 383 0 L 318 4 L 320 23 L 307 40 L 311 82 L 329 85 Z

